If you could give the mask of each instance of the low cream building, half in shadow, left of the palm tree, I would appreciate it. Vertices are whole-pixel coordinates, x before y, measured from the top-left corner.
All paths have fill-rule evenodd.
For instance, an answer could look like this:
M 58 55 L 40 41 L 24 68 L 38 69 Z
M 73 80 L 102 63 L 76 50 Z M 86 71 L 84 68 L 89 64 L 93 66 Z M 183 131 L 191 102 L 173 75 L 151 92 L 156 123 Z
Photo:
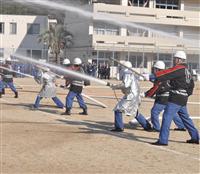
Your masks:
M 45 43 L 38 42 L 40 33 L 48 30 L 47 16 L 0 15 L 0 57 L 13 53 L 45 59 Z

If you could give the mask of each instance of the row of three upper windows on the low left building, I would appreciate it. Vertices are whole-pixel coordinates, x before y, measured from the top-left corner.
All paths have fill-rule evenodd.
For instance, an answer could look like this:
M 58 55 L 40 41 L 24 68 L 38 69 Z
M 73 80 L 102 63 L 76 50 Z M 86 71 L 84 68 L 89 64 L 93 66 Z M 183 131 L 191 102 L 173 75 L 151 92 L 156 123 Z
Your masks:
M 5 33 L 5 23 L 0 22 L 0 34 Z M 10 34 L 17 34 L 17 23 L 11 22 L 10 23 Z M 40 24 L 27 24 L 27 34 L 40 34 Z

